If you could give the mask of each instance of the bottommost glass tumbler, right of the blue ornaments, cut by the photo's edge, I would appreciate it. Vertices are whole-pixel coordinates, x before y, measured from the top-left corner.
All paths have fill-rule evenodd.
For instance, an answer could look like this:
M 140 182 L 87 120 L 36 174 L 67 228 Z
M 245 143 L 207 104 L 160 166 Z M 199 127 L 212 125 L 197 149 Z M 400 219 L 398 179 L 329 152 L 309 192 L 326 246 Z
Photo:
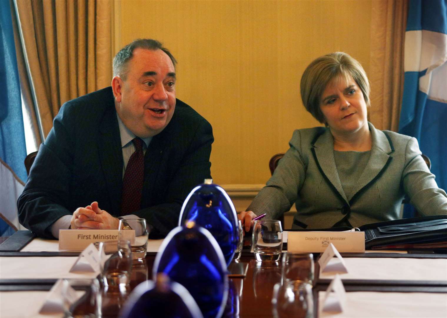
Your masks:
M 285 280 L 283 284 L 275 284 L 272 305 L 275 318 L 313 317 L 312 287 L 301 280 Z

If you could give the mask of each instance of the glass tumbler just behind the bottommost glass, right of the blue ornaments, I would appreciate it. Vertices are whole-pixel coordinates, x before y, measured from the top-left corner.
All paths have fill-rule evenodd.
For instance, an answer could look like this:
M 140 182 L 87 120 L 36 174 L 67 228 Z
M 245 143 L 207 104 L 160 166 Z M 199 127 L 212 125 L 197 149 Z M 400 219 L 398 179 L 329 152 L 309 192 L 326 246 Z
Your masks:
M 285 280 L 302 280 L 312 285 L 314 281 L 313 255 L 284 253 L 283 278 Z

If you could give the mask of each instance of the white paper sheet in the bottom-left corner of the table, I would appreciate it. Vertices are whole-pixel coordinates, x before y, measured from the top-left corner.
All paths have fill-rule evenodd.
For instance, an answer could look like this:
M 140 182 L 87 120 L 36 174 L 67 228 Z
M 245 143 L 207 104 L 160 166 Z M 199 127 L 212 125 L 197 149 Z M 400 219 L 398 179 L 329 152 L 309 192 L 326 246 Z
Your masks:
M 63 313 L 39 314 L 48 293 L 45 291 L 0 292 L 0 317 L 62 317 Z M 84 293 L 84 291 L 76 292 L 79 297 Z

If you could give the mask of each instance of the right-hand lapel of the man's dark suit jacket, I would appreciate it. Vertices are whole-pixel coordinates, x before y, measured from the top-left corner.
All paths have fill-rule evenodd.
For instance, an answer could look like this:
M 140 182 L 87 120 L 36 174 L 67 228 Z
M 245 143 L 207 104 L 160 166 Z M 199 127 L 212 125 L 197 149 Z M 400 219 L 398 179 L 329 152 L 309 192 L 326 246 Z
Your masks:
M 166 138 L 163 137 L 164 135 L 165 134 L 161 132 L 154 136 L 144 155 L 143 195 L 141 196 L 142 208 L 152 205 L 152 194 L 166 144 Z

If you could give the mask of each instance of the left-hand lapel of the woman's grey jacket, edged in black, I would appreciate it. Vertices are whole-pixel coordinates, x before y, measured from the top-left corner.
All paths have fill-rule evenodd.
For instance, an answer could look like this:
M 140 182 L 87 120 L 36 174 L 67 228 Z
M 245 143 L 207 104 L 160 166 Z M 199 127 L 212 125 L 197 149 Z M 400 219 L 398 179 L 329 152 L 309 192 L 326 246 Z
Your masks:
M 342 182 L 338 176 L 337 166 L 335 165 L 334 158 L 334 141 L 332 134 L 329 129 L 316 137 L 317 139 L 312 142 L 312 153 L 314 155 L 314 159 L 316 164 L 323 174 L 323 177 L 329 182 L 330 186 L 332 186 L 335 194 L 348 202 L 346 198 L 345 191 L 343 191 Z

